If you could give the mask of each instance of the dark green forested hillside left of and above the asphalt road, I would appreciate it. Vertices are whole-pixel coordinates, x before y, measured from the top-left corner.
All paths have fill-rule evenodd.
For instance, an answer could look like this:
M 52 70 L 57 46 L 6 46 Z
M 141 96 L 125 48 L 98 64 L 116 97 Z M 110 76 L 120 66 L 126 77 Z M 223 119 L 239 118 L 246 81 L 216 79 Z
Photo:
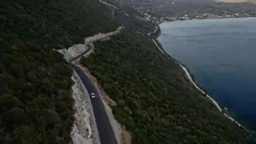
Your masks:
M 72 70 L 53 48 L 116 29 L 109 13 L 95 0 L 1 1 L 0 144 L 70 141 Z

